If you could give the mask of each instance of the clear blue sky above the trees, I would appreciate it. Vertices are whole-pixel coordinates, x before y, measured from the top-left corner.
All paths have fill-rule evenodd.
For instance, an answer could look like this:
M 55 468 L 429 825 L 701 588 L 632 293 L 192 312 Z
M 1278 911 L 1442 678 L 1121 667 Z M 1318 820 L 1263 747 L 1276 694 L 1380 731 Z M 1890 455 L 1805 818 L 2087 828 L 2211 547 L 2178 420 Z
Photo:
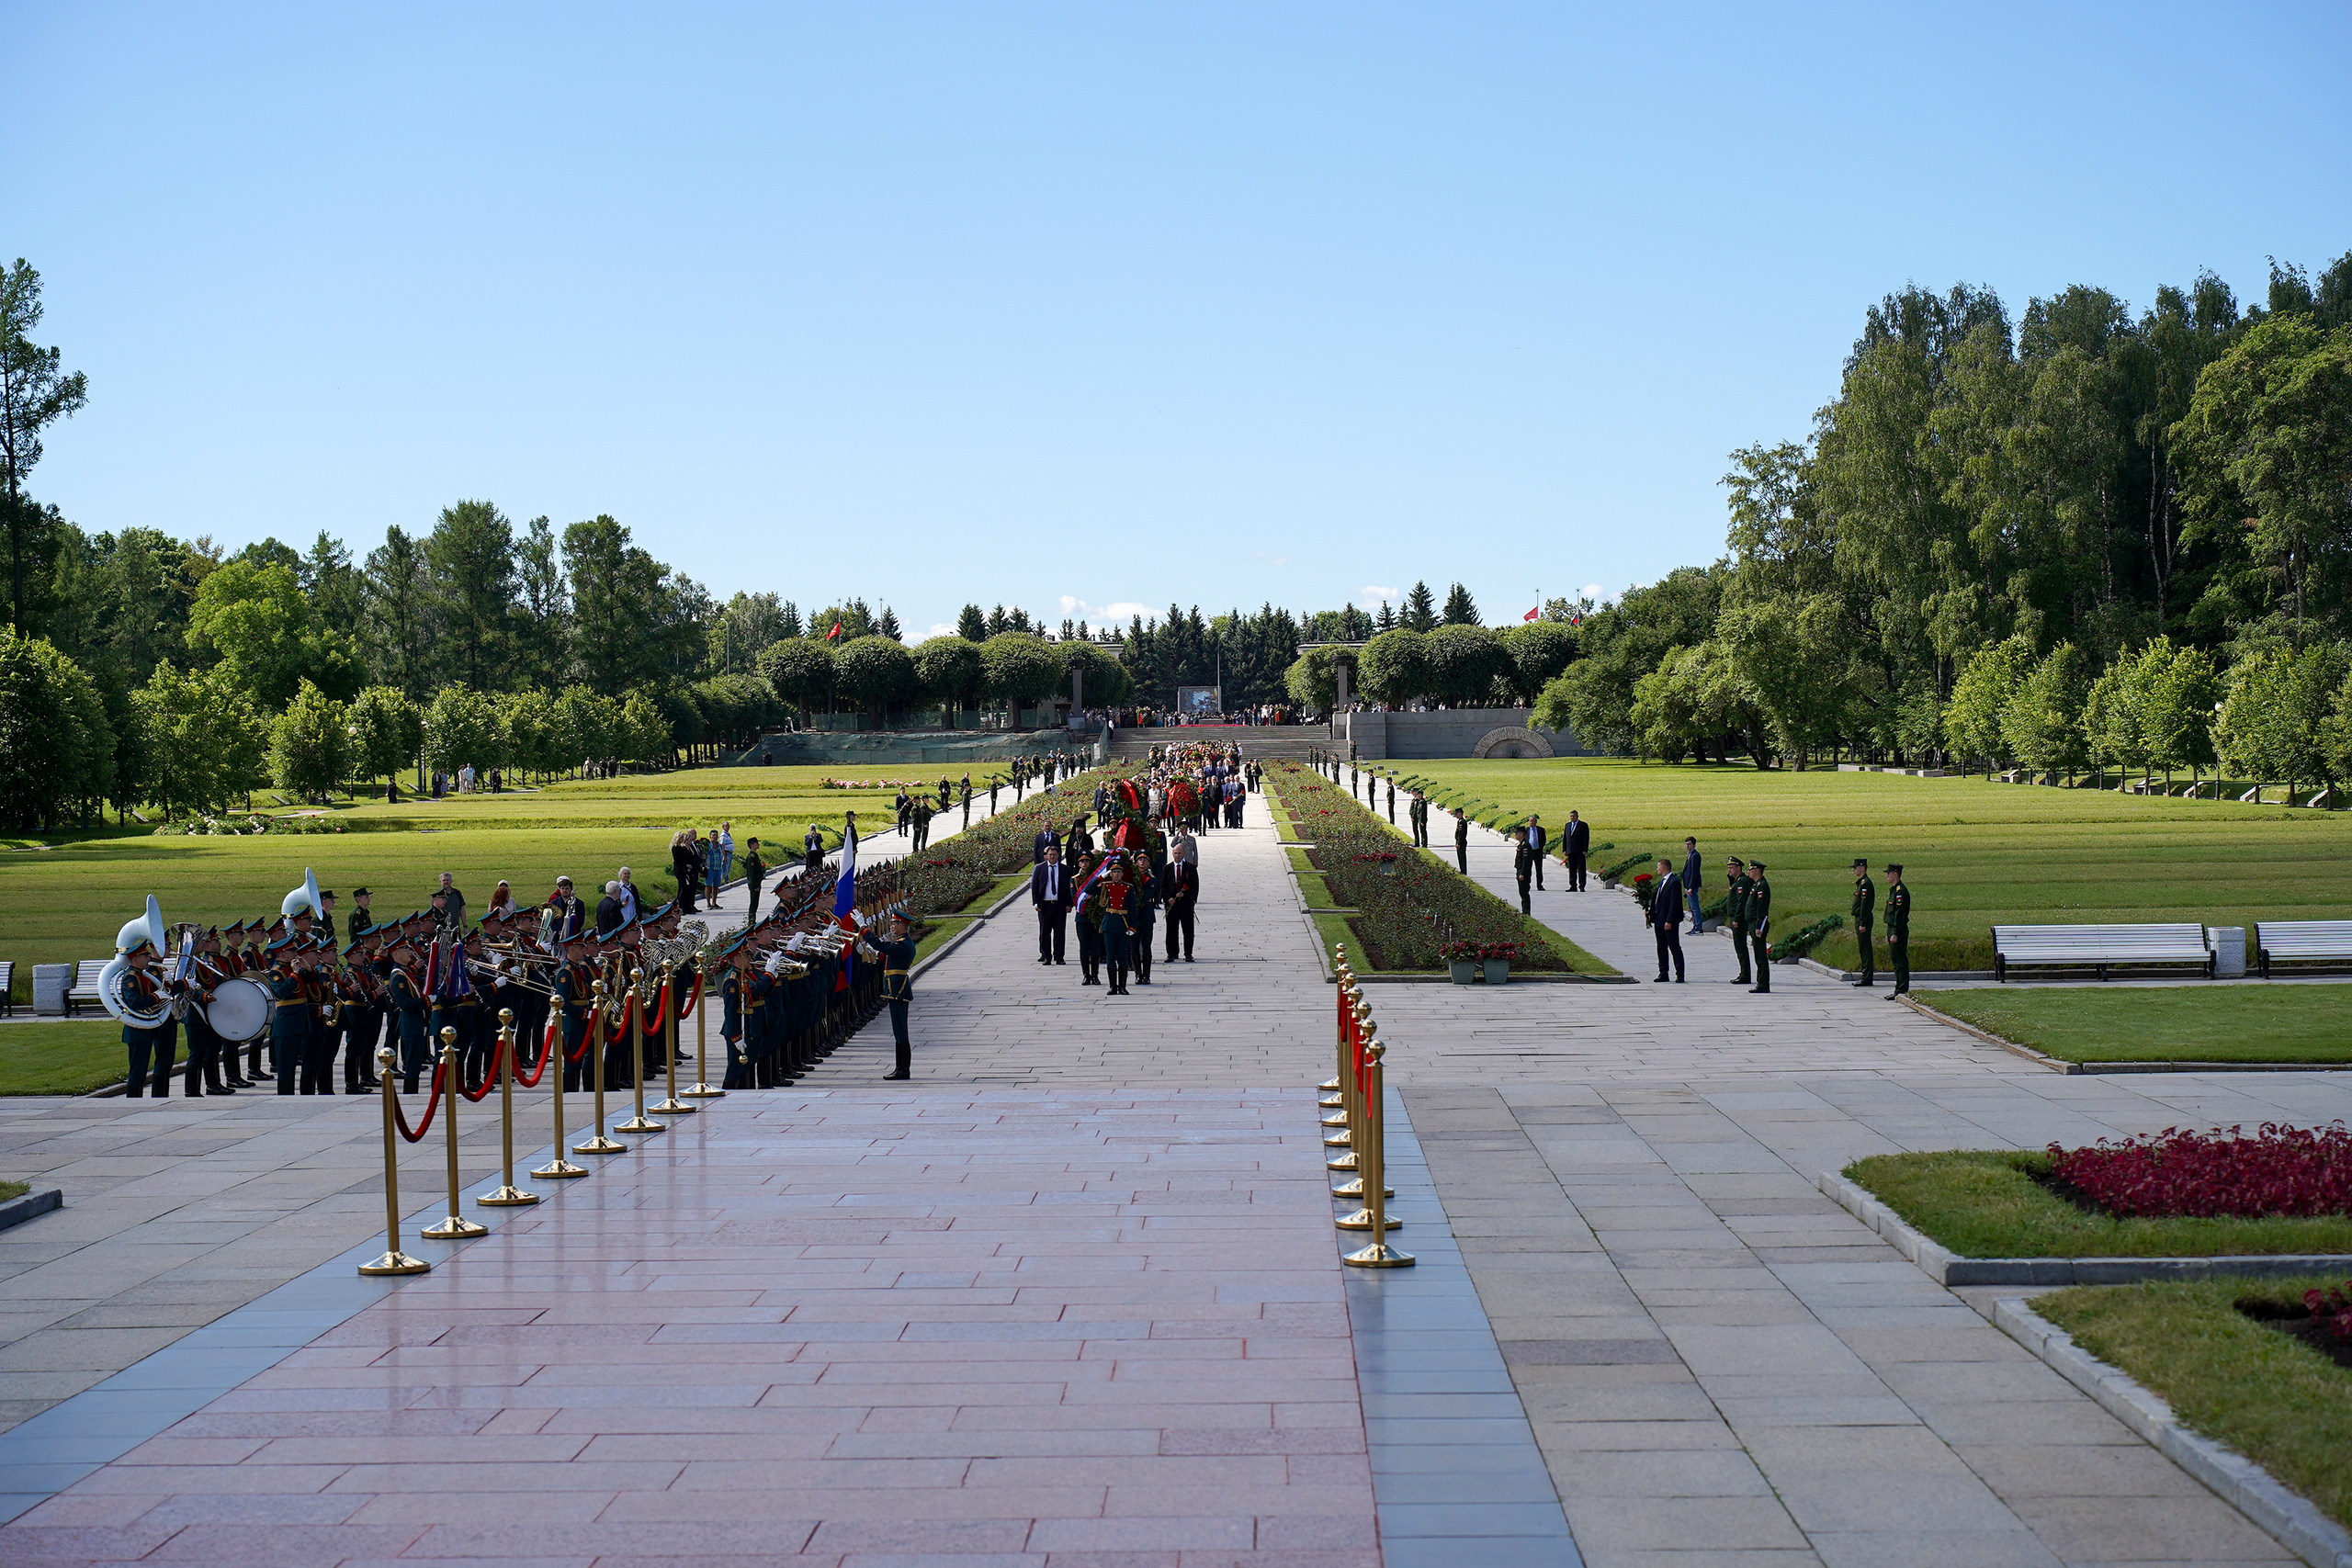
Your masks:
M 1905 280 L 2352 247 L 2343 0 L 19 0 L 0 52 L 82 527 L 612 512 L 917 635 L 1616 592 Z

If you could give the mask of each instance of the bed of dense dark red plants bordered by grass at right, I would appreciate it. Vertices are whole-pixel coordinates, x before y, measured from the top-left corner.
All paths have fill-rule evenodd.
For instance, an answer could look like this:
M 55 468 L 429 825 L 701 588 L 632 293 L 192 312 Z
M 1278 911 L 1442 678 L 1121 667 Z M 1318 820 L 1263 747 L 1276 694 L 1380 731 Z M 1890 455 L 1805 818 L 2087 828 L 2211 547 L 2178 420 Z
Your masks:
M 2051 1175 L 2117 1218 L 2131 1215 L 2324 1215 L 2352 1213 L 2352 1133 L 2265 1121 L 2154 1138 L 2100 1138 L 2086 1150 L 2051 1145 Z

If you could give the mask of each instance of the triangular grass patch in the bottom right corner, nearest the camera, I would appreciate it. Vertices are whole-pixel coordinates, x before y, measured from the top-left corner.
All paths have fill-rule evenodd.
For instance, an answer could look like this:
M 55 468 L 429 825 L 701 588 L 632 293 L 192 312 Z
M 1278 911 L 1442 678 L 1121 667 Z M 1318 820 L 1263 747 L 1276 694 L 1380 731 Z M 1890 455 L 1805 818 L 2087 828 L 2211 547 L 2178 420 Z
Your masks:
M 2074 1286 L 2034 1312 L 2173 1406 L 2201 1436 L 2246 1455 L 2352 1526 L 2352 1368 L 2249 1319 L 2239 1300 L 2300 1305 L 2340 1279 Z

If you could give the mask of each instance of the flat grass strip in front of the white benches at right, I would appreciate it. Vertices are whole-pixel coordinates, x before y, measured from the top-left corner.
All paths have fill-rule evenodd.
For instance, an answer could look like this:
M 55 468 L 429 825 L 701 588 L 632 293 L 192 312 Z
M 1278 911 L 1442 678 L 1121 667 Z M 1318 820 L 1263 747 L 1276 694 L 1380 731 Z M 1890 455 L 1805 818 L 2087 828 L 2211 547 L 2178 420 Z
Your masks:
M 2105 985 L 1912 992 L 2070 1063 L 2352 1063 L 2347 985 Z

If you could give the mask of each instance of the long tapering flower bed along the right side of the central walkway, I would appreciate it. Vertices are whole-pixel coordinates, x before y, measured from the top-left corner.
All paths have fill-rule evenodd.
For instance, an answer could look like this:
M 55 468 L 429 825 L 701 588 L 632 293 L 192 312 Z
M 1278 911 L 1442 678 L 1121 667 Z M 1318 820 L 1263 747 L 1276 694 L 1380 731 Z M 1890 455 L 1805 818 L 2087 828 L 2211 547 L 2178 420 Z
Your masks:
M 1510 947 L 1519 969 L 1559 973 L 1569 969 L 1541 936 L 1531 936 L 1519 912 L 1423 853 L 1402 849 L 1399 835 L 1362 802 L 1296 762 L 1272 762 L 1268 788 L 1301 837 L 1315 839 L 1308 863 L 1331 889 L 1334 903 L 1357 910 L 1348 931 L 1374 969 L 1437 971 L 1444 945 Z M 1592 964 L 1590 973 L 1609 973 Z

